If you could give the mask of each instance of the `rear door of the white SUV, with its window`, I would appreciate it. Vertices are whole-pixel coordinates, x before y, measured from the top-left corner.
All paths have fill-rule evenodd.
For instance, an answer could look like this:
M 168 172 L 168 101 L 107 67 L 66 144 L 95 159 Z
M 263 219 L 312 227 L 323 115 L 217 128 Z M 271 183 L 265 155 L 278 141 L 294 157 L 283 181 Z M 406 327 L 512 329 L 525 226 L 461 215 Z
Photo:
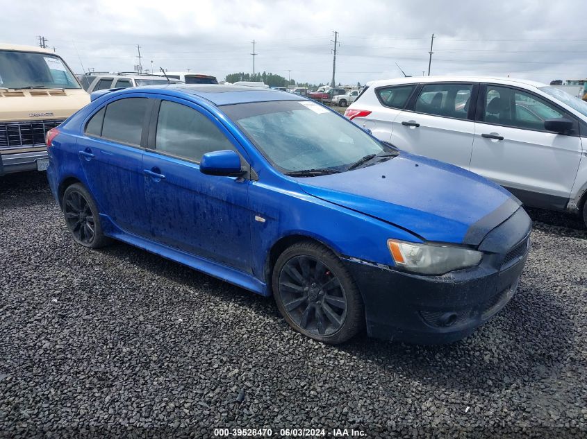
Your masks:
M 421 85 L 393 123 L 391 143 L 469 169 L 474 134 L 473 83 Z

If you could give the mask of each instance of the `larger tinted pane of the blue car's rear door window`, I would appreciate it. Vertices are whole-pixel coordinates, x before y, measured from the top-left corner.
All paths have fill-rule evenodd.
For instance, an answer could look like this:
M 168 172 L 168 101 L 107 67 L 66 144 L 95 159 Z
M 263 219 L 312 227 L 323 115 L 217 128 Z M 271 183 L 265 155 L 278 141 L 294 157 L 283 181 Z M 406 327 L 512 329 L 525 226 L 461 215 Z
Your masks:
M 147 98 L 124 98 L 108 104 L 102 137 L 121 144 L 140 146 Z

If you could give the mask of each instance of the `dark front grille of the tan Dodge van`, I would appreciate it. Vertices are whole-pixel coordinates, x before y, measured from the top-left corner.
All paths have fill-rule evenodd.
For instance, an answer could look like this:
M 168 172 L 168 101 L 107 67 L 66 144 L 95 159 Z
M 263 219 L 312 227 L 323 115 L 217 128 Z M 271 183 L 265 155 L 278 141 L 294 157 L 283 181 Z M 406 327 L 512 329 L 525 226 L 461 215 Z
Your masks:
M 42 146 L 47 131 L 64 120 L 0 122 L 0 149 Z

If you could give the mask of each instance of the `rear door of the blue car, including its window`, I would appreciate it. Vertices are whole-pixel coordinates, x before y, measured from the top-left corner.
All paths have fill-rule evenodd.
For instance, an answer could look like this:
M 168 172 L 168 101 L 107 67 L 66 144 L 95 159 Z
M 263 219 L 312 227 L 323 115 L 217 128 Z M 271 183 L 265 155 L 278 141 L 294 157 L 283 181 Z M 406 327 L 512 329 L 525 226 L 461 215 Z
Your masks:
M 150 104 L 144 95 L 110 101 L 92 114 L 78 141 L 79 160 L 101 214 L 140 236 L 149 234 L 141 144 Z

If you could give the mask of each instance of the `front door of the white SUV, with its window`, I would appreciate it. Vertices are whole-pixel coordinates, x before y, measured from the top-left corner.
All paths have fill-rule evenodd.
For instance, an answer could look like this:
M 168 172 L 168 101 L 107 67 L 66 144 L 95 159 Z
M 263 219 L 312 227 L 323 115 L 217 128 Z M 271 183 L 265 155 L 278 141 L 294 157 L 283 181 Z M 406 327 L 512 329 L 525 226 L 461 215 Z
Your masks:
M 545 119 L 561 117 L 575 121 L 529 90 L 482 85 L 471 171 L 506 187 L 527 205 L 563 209 L 579 169 L 581 139 L 578 126 L 569 135 L 545 130 Z

